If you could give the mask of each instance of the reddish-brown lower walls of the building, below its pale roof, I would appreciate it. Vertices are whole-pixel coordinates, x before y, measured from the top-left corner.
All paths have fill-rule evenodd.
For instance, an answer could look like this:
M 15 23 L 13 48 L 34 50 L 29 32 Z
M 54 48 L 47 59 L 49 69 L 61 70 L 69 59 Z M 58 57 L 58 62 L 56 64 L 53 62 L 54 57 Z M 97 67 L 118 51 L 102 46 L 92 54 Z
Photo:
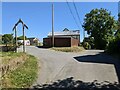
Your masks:
M 78 46 L 79 40 L 72 37 L 54 37 L 54 47 Z M 52 37 L 43 38 L 44 47 L 52 47 Z

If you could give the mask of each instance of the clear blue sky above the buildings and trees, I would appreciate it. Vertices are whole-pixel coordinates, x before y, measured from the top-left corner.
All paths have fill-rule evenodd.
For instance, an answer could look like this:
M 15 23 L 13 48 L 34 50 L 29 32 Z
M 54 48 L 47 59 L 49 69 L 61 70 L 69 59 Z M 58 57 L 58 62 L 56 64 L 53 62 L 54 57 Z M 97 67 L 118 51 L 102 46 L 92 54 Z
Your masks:
M 14 33 L 15 23 L 21 18 L 28 26 L 25 29 L 27 37 L 37 37 L 43 41 L 52 30 L 52 5 L 53 2 L 2 2 L 2 32 L 1 34 Z M 77 27 L 66 2 L 54 2 L 54 31 L 80 30 L 80 40 L 83 40 L 83 28 L 78 21 L 77 14 L 72 2 L 69 5 L 74 13 L 79 27 Z M 95 8 L 105 8 L 111 15 L 118 19 L 118 2 L 75 2 L 80 21 L 83 24 L 85 14 Z M 1 4 L 0 4 L 1 7 Z M 18 36 L 22 35 L 22 25 L 17 27 Z M 87 34 L 86 34 L 87 36 Z

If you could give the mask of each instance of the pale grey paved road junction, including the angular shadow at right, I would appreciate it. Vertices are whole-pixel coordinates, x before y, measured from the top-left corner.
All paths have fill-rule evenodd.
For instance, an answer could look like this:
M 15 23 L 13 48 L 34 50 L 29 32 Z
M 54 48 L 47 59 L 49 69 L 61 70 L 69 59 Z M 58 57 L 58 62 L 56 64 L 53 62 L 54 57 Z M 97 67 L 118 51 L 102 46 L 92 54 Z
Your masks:
M 21 49 L 19 48 L 19 51 Z M 35 84 L 52 83 L 73 77 L 84 82 L 118 82 L 120 64 L 103 50 L 86 50 L 80 53 L 58 52 L 27 46 L 26 52 L 38 58 L 39 75 Z

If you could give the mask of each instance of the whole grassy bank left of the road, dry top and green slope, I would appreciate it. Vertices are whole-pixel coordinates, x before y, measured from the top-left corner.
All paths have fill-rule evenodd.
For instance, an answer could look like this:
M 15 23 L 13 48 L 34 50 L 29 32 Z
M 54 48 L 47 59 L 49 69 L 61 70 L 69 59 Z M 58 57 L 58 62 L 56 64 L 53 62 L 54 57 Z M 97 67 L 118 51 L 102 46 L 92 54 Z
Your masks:
M 8 52 L 3 53 L 2 58 L 2 64 L 11 64 L 10 62 L 14 62 L 14 60 L 19 61 L 17 65 L 14 65 L 15 69 L 10 68 L 2 76 L 2 88 L 29 88 L 36 80 L 38 65 L 34 56 L 26 53 Z

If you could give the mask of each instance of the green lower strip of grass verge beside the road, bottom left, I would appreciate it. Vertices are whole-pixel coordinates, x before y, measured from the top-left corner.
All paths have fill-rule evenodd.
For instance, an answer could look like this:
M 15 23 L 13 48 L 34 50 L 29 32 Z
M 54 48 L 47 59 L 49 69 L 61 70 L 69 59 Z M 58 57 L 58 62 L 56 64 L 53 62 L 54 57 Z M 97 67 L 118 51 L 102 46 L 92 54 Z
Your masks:
M 2 77 L 2 88 L 29 88 L 33 84 L 38 72 L 37 59 L 31 55 L 27 57 L 24 63 Z

